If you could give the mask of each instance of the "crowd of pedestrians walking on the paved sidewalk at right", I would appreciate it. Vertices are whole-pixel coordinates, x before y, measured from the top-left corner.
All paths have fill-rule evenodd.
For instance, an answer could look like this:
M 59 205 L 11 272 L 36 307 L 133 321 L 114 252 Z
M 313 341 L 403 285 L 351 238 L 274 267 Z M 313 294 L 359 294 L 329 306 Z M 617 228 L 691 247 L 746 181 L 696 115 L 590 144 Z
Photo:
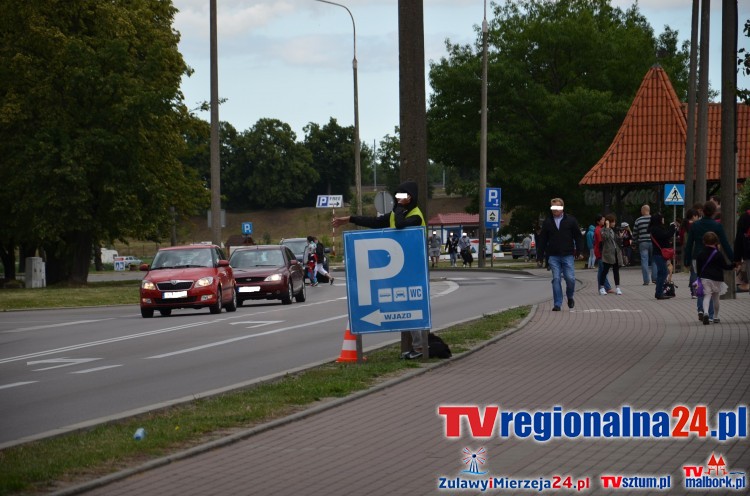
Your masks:
M 736 271 L 739 292 L 748 289 L 750 209 L 737 221 L 733 246 L 719 214 L 720 207 L 712 199 L 688 209 L 684 220 L 667 223 L 661 213 L 652 214 L 650 206 L 643 205 L 633 231 L 627 222 L 618 224 L 614 214 L 600 214 L 582 232 L 575 218 L 564 212 L 562 199 L 554 198 L 537 237 L 537 259 L 540 265 L 546 261 L 552 272 L 552 310 L 560 311 L 563 295 L 569 308 L 575 306 L 573 262 L 579 255 L 585 260 L 584 268 L 597 269 L 597 291 L 606 296 L 623 294 L 620 269 L 629 265 L 637 252 L 643 284 L 654 285 L 657 300 L 675 296 L 672 272 L 684 267 L 690 272 L 690 294 L 698 320 L 706 325 L 719 323 L 719 297 L 728 290 L 725 271 Z M 614 289 L 608 280 L 610 271 Z

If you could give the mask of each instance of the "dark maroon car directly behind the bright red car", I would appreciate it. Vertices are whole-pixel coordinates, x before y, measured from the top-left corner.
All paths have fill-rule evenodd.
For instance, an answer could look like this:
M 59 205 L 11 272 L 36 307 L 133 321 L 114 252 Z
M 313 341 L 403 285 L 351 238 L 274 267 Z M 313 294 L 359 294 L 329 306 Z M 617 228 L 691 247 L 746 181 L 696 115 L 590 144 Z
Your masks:
M 288 305 L 292 298 L 300 303 L 307 299 L 304 266 L 289 246 L 237 247 L 229 264 L 237 281 L 239 306 L 246 300 L 281 300 Z

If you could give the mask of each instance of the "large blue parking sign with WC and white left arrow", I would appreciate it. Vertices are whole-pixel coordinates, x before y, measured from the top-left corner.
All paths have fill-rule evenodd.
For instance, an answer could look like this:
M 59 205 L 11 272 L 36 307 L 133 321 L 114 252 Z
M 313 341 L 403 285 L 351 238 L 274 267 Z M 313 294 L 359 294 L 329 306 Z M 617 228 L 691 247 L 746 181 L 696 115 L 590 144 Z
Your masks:
M 432 328 L 423 227 L 344 232 L 353 334 Z

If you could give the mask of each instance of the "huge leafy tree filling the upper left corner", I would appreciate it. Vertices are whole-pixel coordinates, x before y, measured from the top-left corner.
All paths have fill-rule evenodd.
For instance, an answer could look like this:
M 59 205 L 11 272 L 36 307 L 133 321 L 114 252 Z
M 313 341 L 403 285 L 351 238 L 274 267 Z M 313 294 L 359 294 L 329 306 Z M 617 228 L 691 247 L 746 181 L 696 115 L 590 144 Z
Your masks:
M 0 243 L 85 283 L 92 246 L 207 201 L 179 162 L 187 73 L 162 0 L 0 0 Z M 5 261 L 5 257 L 4 257 Z M 7 270 L 7 269 L 6 269 Z

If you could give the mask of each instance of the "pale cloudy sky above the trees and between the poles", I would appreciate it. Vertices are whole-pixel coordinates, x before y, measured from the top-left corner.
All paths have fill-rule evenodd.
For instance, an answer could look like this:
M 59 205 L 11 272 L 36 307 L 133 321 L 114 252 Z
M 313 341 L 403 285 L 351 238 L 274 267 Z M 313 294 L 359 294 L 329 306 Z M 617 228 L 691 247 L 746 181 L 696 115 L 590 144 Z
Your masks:
M 483 0 L 423 0 L 425 56 L 445 55 L 445 40 L 473 43 L 481 25 Z M 180 51 L 195 70 L 183 81 L 190 108 L 210 99 L 209 2 L 173 0 Z M 362 143 L 373 146 L 398 125 L 397 0 L 337 0 L 354 16 Z M 631 0 L 613 0 L 622 8 Z M 641 0 L 641 12 L 656 33 L 665 25 L 690 38 L 691 0 Z M 491 15 L 487 2 L 488 17 Z M 739 1 L 740 26 L 750 18 L 750 2 Z M 721 2 L 712 2 L 711 85 L 720 83 Z M 740 30 L 740 46 L 750 48 Z M 345 9 L 315 0 L 218 0 L 219 118 L 239 131 L 258 119 L 288 123 L 297 139 L 303 127 L 331 117 L 354 124 L 352 21 Z M 740 86 L 750 86 L 742 78 Z M 428 88 L 429 91 L 429 88 Z M 207 112 L 198 113 L 209 120 Z M 477 117 L 479 119 L 479 117 Z

